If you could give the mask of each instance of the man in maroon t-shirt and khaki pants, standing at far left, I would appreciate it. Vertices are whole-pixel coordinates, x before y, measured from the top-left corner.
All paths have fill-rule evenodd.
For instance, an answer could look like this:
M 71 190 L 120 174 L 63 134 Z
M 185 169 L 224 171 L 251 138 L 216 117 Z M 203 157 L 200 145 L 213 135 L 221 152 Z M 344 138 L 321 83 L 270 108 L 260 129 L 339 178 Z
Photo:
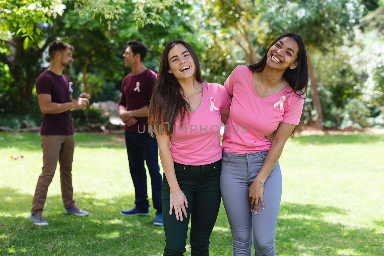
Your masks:
M 72 52 L 72 45 L 53 41 L 48 48 L 50 67 L 40 74 L 36 82 L 37 99 L 43 112 L 40 127 L 43 168 L 36 185 L 30 220 L 39 226 L 48 225 L 41 212 L 58 161 L 65 213 L 88 215 L 88 211 L 76 206 L 73 199 L 71 171 L 74 138 L 71 109 L 88 106 L 89 94 L 83 92 L 78 99 L 72 99 L 72 82 L 63 75 L 63 70 L 70 68 L 73 62 Z

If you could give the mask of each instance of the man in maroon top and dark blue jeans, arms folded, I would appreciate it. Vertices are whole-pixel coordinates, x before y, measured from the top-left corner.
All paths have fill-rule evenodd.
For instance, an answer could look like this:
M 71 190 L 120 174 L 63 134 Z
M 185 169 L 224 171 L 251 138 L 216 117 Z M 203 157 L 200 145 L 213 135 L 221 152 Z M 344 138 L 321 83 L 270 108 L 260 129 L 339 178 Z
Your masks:
M 128 41 L 123 54 L 124 64 L 132 69 L 121 85 L 119 114 L 125 124 L 125 140 L 129 171 L 135 187 L 135 207 L 122 210 L 126 216 L 149 215 L 147 199 L 146 161 L 151 177 L 153 207 L 157 210 L 154 225 L 163 225 L 161 209 L 160 167 L 157 157 L 157 141 L 148 133 L 148 107 L 156 80 L 156 73 L 144 66 L 147 47 L 139 41 Z

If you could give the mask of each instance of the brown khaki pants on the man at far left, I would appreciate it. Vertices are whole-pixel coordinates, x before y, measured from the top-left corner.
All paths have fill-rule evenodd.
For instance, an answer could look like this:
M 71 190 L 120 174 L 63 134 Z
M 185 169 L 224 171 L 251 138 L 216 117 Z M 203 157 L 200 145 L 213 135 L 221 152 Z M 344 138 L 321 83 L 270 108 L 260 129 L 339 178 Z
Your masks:
M 43 211 L 48 186 L 55 174 L 57 161 L 60 164 L 61 195 L 64 208 L 74 206 L 72 187 L 73 135 L 41 135 L 43 168 L 37 181 L 31 213 Z

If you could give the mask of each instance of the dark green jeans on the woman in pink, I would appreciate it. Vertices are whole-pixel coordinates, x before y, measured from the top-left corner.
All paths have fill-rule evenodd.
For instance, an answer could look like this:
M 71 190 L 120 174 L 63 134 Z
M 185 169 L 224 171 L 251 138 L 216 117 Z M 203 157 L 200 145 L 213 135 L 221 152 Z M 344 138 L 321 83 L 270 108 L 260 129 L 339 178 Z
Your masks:
M 183 165 L 174 162 L 180 189 L 188 200 L 187 215 L 176 220 L 175 211 L 169 215 L 170 188 L 164 175 L 162 184 L 162 211 L 166 247 L 164 255 L 183 255 L 191 219 L 191 255 L 208 255 L 209 236 L 214 228 L 220 208 L 221 160 L 207 165 Z

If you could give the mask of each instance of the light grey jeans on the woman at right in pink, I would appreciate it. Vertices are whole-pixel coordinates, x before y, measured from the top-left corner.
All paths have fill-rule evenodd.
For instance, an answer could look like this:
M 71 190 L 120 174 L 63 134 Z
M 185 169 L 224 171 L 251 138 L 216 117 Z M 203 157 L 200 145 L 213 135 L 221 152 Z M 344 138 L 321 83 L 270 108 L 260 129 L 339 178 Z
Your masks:
M 268 151 L 231 154 L 223 151 L 220 177 L 221 195 L 233 239 L 233 255 L 251 255 L 252 237 L 256 256 L 275 256 L 275 232 L 281 200 L 281 171 L 275 165 L 264 184 L 264 208 L 251 212 L 248 187 L 253 182 Z

